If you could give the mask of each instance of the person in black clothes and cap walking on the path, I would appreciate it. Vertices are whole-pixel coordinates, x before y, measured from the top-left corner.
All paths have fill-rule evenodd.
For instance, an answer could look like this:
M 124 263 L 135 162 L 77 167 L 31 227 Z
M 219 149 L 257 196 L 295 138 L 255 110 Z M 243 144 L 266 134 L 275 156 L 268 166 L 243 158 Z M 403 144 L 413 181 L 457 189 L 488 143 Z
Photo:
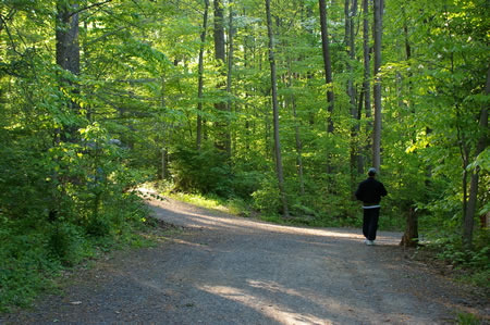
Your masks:
M 381 209 L 381 197 L 388 195 L 384 185 L 376 179 L 377 171 L 371 167 L 368 178 L 359 183 L 356 190 L 357 200 L 363 201 L 363 234 L 366 245 L 375 245 L 376 232 L 378 230 L 379 210 Z

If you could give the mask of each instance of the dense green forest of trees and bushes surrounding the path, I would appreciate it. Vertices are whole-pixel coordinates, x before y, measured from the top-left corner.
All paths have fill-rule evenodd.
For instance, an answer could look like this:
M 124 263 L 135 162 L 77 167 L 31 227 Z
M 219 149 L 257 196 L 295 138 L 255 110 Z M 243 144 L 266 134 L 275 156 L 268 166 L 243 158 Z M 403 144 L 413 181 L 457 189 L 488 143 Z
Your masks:
M 487 267 L 485 283 L 489 12 L 486 0 L 2 0 L 0 300 L 136 240 L 138 184 L 358 226 L 353 193 L 371 166 L 389 191 L 381 226 Z

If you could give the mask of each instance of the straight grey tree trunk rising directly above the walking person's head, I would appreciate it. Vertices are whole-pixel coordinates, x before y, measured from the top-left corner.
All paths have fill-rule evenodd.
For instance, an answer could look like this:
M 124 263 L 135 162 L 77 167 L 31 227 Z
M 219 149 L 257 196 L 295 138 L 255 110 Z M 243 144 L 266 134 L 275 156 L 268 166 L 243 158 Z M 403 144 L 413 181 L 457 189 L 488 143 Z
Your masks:
M 372 166 L 381 166 L 381 37 L 383 0 L 375 0 L 375 129 L 372 133 Z

